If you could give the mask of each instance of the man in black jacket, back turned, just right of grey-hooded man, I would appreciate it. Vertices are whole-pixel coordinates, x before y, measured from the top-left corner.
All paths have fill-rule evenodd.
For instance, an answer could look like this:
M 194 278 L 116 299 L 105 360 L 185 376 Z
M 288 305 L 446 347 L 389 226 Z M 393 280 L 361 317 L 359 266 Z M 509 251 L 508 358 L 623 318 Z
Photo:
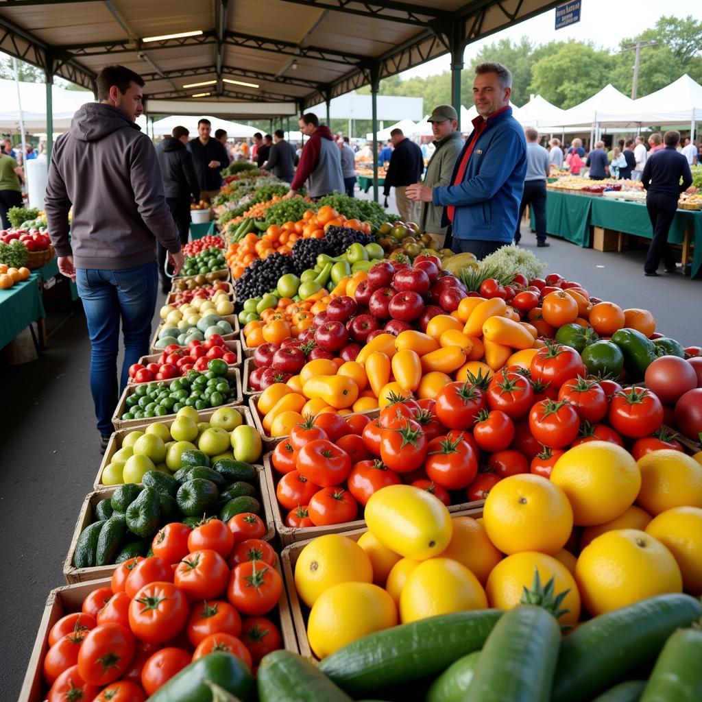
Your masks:
M 171 209 L 173 220 L 178 227 L 180 243 L 187 244 L 190 233 L 190 195 L 196 200 L 200 196 L 200 187 L 192 164 L 192 154 L 187 150 L 188 135 L 185 127 L 173 127 L 170 137 L 166 137 L 156 150 L 164 177 L 164 192 L 166 202 Z M 164 273 L 166 249 L 159 241 L 159 274 L 161 290 L 167 293 L 171 282 Z

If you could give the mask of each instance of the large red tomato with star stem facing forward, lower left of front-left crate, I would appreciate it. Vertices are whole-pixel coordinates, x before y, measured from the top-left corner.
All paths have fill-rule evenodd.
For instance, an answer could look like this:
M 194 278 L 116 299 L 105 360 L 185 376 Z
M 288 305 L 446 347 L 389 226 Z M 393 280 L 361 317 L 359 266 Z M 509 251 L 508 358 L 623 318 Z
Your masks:
M 81 644 L 78 671 L 86 682 L 107 685 L 126 671 L 134 657 L 134 648 L 133 635 L 121 624 L 96 626 Z

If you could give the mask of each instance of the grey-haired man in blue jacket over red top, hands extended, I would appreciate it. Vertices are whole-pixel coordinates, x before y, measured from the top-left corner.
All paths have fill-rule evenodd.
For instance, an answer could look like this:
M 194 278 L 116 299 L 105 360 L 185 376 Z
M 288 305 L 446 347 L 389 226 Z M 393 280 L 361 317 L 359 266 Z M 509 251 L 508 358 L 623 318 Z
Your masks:
M 455 253 L 482 259 L 514 237 L 527 173 L 524 129 L 512 117 L 512 75 L 501 63 L 475 67 L 473 100 L 478 116 L 466 140 L 451 185 L 411 185 L 407 197 L 444 206 Z

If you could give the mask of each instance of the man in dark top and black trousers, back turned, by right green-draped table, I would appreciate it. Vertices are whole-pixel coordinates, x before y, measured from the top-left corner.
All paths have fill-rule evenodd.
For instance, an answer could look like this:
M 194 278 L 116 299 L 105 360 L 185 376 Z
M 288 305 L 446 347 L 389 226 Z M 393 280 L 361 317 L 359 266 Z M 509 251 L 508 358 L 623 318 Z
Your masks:
M 644 263 L 644 274 L 648 276 L 658 275 L 661 258 L 665 272 L 675 272 L 675 256 L 668 246 L 668 231 L 675 218 L 680 193 L 692 185 L 692 174 L 687 159 L 675 150 L 679 142 L 679 131 L 665 132 L 665 148 L 649 154 L 641 176 L 641 182 L 646 189 L 646 208 L 654 230 Z

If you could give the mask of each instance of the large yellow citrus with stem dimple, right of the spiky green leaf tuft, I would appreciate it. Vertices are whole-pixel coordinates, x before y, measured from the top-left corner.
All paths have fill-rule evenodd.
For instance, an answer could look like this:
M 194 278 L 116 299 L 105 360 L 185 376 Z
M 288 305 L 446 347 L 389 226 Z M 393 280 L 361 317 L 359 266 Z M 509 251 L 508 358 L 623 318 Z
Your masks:
M 617 529 L 598 536 L 578 557 L 575 577 L 592 616 L 664 592 L 682 592 L 682 576 L 673 554 L 639 529 Z

